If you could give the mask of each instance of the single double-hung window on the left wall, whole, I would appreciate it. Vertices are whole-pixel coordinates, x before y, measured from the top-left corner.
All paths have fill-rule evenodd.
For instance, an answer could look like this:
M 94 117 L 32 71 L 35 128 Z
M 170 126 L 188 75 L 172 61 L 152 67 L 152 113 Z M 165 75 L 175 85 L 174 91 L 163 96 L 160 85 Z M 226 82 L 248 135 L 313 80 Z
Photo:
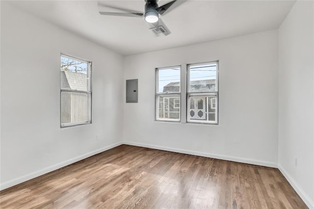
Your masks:
M 91 66 L 61 54 L 61 127 L 91 123 Z

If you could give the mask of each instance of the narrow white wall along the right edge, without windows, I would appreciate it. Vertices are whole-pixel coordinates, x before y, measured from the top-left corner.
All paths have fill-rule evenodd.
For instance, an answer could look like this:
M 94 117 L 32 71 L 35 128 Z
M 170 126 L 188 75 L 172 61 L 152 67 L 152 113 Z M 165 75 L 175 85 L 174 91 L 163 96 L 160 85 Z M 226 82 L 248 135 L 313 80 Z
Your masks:
M 279 168 L 310 208 L 314 208 L 313 10 L 313 1 L 297 1 L 279 28 Z

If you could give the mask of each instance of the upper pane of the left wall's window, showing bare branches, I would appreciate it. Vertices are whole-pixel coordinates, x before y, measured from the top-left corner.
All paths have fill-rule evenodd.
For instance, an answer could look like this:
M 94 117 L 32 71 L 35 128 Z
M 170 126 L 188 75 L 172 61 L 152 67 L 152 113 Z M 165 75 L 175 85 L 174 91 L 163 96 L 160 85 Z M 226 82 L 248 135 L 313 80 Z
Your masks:
M 61 56 L 61 89 L 88 91 L 87 62 Z

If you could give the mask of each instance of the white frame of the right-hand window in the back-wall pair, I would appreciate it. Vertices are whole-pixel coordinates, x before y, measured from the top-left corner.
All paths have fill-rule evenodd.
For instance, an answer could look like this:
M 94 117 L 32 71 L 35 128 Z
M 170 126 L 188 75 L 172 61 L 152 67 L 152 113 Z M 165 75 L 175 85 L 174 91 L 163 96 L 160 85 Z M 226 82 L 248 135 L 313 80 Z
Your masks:
M 214 92 L 190 92 L 190 67 L 191 66 L 197 66 L 197 65 L 205 65 L 205 64 L 216 64 L 216 89 Z M 206 114 L 209 116 L 209 97 L 214 96 L 215 97 L 215 121 L 210 120 L 197 120 L 197 119 L 190 119 L 190 97 L 206 97 L 207 98 L 207 107 L 205 107 Z M 218 125 L 218 106 L 219 105 L 219 61 L 210 61 L 210 62 L 201 62 L 201 63 L 193 63 L 193 64 L 187 64 L 186 65 L 186 123 L 197 123 L 197 124 L 212 124 L 212 125 Z M 197 114 L 197 113 L 195 113 Z

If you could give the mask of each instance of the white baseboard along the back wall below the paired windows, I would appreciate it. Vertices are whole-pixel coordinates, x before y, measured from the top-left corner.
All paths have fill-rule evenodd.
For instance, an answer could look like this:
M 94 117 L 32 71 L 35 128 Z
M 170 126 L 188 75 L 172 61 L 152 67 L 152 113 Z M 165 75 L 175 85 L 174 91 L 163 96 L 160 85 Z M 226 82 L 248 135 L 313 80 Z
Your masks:
M 225 160 L 225 161 L 233 161 L 237 163 L 248 163 L 248 164 L 262 165 L 262 166 L 273 167 L 273 168 L 278 167 L 277 163 L 271 163 L 271 162 L 266 162 L 266 161 L 254 161 L 254 160 L 249 160 L 249 159 L 244 159 L 244 158 L 235 158 L 235 157 L 230 157 L 230 156 L 225 156 L 225 155 L 216 155 L 216 154 L 210 154 L 210 153 L 205 153 L 205 152 L 196 152 L 196 151 L 190 151 L 190 150 L 185 150 L 185 149 L 176 149 L 176 148 L 156 146 L 156 145 L 151 145 L 151 144 L 143 144 L 143 143 L 137 143 L 137 142 L 131 142 L 131 141 L 123 141 L 123 144 L 152 148 L 152 149 L 159 149 L 159 150 L 170 151 L 170 152 L 178 152 L 178 153 L 183 153 L 183 154 L 188 154 L 188 155 L 196 155 L 196 156 L 214 158 L 214 159 Z

